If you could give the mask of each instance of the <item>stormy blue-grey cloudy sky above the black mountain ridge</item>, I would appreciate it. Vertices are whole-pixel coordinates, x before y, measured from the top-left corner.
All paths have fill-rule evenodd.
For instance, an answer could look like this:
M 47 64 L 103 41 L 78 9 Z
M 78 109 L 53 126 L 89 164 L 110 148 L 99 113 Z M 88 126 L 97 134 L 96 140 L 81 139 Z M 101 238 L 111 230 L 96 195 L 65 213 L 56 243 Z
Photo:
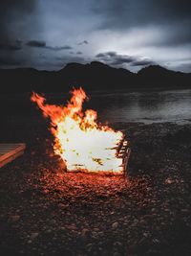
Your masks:
M 0 68 L 102 61 L 191 72 L 190 0 L 3 0 Z

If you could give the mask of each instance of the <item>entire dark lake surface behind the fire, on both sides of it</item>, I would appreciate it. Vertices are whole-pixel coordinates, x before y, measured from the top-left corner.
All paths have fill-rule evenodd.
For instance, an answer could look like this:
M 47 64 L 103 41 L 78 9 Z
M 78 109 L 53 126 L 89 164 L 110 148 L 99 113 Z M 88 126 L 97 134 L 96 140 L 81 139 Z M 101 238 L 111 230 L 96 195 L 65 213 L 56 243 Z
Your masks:
M 1 116 L 31 118 L 36 107 L 30 101 L 31 94 L 0 95 Z M 66 104 L 69 95 L 46 94 L 48 102 Z M 85 108 L 97 111 L 99 121 L 108 122 L 156 122 L 191 123 L 191 89 L 141 92 L 96 92 L 90 95 Z M 5 111 L 6 109 L 6 111 Z M 32 117 L 34 118 L 34 117 Z

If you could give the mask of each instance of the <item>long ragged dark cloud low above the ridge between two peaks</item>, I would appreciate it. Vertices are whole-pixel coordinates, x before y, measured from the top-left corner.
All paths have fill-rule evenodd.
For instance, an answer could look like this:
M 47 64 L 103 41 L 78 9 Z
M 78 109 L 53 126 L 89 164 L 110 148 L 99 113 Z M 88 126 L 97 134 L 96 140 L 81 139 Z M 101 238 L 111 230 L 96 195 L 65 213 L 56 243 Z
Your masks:
M 119 55 L 117 52 L 106 52 L 106 53 L 99 53 L 96 55 L 96 58 L 99 60 L 114 66 L 123 66 L 126 64 L 132 66 L 145 66 L 154 64 L 154 61 L 146 58 L 138 58 L 128 55 Z

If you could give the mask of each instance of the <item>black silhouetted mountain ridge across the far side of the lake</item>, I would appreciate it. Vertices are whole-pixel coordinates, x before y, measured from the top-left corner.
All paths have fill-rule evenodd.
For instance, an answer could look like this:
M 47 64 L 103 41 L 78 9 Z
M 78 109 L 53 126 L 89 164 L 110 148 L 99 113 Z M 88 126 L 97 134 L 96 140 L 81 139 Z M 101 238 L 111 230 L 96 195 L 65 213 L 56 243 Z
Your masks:
M 59 71 L 33 68 L 0 69 L 0 92 L 61 92 L 73 86 L 86 90 L 140 90 L 144 88 L 191 88 L 191 73 L 168 70 L 159 65 L 142 68 L 138 73 L 93 61 L 68 63 Z

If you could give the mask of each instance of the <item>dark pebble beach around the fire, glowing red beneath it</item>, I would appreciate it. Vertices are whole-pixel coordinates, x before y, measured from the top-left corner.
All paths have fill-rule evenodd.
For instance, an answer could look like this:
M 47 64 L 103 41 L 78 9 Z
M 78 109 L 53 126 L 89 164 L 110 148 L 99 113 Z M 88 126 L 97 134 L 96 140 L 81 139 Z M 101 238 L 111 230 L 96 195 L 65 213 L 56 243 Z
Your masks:
M 46 121 L 21 124 L 1 128 L 28 148 L 0 172 L 0 255 L 191 255 L 190 125 L 113 124 L 121 176 L 65 173 Z

